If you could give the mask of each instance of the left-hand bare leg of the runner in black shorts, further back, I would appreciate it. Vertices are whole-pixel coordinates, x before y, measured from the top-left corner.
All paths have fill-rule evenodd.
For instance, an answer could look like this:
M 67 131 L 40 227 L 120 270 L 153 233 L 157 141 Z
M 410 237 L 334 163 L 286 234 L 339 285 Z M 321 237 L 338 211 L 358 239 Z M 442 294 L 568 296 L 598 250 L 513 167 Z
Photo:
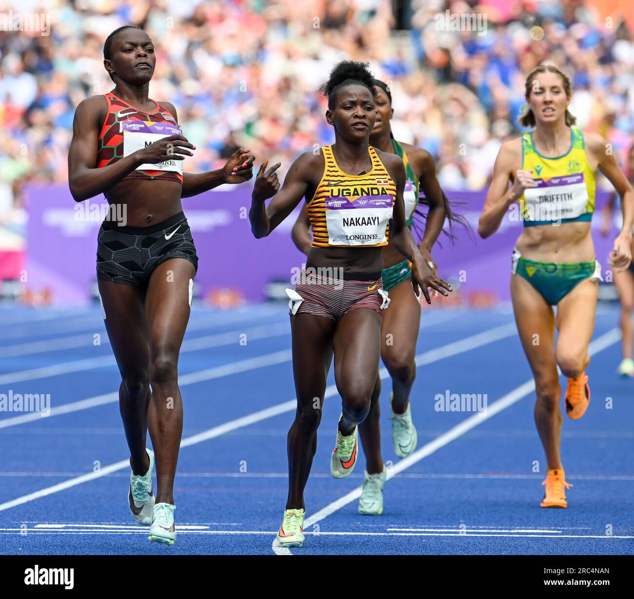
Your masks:
M 131 285 L 99 280 L 106 312 L 104 321 L 119 366 L 119 411 L 130 449 L 130 466 L 136 475 L 150 467 L 145 451 L 150 403 L 150 350 L 143 309 L 144 292 Z

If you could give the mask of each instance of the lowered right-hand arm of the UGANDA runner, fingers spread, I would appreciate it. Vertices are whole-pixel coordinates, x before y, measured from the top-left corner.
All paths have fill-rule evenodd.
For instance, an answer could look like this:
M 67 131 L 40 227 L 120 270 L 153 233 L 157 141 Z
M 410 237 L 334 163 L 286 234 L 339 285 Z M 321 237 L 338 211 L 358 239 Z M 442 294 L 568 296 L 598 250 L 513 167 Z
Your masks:
M 393 157 L 393 158 L 392 158 Z M 425 296 L 427 304 L 431 304 L 428 288 L 432 288 L 443 295 L 449 295 L 451 285 L 447 281 L 438 278 L 427 264 L 427 260 L 420 254 L 405 218 L 405 203 L 403 202 L 403 190 L 405 189 L 405 165 L 396 154 L 382 155 L 381 160 L 387 168 L 392 181 L 396 183 L 396 202 L 390 221 L 390 238 L 394 247 L 411 262 L 411 285 L 414 292 L 420 297 L 420 292 Z

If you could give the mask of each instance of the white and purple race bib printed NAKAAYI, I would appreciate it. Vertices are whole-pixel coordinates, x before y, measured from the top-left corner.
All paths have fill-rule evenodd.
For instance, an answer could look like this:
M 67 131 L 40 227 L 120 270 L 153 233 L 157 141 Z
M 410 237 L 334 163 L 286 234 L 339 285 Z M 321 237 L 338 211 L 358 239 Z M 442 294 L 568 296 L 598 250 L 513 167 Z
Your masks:
M 326 226 L 330 245 L 378 245 L 387 243 L 385 229 L 392 218 L 391 195 L 328 198 Z

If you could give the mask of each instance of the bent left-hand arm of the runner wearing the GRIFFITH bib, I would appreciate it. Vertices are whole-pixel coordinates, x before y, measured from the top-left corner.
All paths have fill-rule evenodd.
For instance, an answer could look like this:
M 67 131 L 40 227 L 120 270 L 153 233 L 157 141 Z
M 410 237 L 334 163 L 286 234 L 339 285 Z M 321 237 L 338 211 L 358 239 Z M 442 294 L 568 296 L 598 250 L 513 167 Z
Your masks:
M 513 139 L 502 144 L 493 167 L 493 177 L 486 193 L 486 201 L 477 226 L 482 239 L 490 237 L 500 228 L 508 208 L 524 194 L 524 190 L 534 187 L 533 171 L 514 170 L 521 165 L 521 139 Z M 508 181 L 513 181 L 508 189 Z

